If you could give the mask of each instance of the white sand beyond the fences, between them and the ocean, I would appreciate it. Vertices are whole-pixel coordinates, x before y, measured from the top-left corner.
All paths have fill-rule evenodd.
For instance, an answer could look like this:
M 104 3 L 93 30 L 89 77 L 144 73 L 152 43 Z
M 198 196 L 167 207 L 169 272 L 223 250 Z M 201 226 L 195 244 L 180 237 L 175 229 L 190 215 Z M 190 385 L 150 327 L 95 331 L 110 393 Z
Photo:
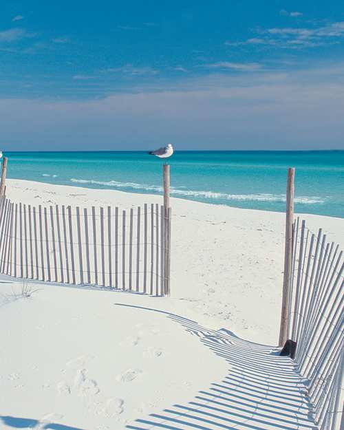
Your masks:
M 10 199 L 30 204 L 131 208 L 162 202 L 156 195 L 8 180 Z M 171 296 L 186 301 L 199 321 L 238 336 L 277 342 L 283 279 L 283 213 L 171 199 Z M 341 218 L 303 215 L 344 248 Z

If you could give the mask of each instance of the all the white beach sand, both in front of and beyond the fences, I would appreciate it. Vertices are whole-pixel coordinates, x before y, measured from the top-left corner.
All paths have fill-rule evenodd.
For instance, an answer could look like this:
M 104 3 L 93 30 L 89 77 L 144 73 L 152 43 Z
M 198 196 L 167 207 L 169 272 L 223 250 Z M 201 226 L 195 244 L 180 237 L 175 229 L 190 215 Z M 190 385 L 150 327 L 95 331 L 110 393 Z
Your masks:
M 20 180 L 7 194 L 37 205 L 161 202 Z M 277 343 L 283 214 L 171 206 L 170 299 L 43 283 L 24 299 L 21 282 L 1 277 L 1 429 L 310 429 L 290 359 L 219 330 Z M 343 246 L 343 219 L 305 219 Z

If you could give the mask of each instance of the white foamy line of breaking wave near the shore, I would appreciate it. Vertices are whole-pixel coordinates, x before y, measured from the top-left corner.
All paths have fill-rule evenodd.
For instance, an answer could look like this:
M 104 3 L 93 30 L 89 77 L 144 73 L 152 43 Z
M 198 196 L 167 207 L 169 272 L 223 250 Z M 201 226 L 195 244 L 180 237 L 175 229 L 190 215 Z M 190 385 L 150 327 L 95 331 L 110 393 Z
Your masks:
M 137 184 L 136 182 L 118 182 L 118 181 L 95 181 L 85 179 L 71 179 L 71 182 L 78 184 L 93 184 L 100 186 L 111 186 L 115 189 L 135 189 L 142 191 L 155 191 L 162 193 L 162 186 L 157 185 L 145 185 Z M 179 195 L 184 197 L 200 197 L 203 199 L 213 200 L 235 200 L 235 201 L 255 201 L 255 202 L 286 202 L 286 195 L 283 194 L 268 194 L 268 193 L 257 193 L 257 194 L 228 194 L 228 193 L 216 193 L 215 191 L 191 191 L 185 189 L 176 189 L 171 187 L 171 195 Z M 321 197 L 306 197 L 299 196 L 295 197 L 295 203 L 302 204 L 322 204 L 325 203 Z

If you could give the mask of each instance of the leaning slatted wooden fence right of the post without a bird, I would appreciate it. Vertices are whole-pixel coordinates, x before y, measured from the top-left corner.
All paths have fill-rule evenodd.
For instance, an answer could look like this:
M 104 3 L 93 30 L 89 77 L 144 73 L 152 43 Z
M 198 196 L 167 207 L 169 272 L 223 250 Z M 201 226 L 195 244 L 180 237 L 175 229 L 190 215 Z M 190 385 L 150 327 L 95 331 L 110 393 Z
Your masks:
M 339 429 L 343 411 L 343 251 L 320 229 L 294 222 L 288 338 L 306 378 L 314 420 L 321 430 Z

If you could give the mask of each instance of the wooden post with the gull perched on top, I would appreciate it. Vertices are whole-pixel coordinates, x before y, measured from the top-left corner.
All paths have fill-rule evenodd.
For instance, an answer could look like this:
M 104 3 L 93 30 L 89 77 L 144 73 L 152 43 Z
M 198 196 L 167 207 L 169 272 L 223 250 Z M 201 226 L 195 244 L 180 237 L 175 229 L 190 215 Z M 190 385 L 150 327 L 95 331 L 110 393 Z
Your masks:
M 164 294 L 170 293 L 169 279 L 169 207 L 170 207 L 170 166 L 164 164 Z

